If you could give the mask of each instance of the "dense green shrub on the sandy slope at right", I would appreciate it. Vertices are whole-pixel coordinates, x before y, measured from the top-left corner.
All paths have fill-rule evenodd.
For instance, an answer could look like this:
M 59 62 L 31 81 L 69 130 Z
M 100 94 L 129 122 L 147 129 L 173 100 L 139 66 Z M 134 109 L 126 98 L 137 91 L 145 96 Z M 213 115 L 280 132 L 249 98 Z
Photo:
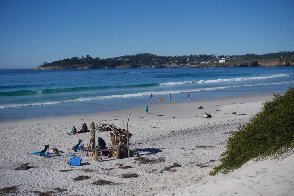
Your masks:
M 289 87 L 283 96 L 274 96 L 263 103 L 262 112 L 250 118 L 249 123 L 239 124 L 239 131 L 221 143 L 227 150 L 210 175 L 225 174 L 252 158 L 281 155 L 294 147 L 294 88 Z

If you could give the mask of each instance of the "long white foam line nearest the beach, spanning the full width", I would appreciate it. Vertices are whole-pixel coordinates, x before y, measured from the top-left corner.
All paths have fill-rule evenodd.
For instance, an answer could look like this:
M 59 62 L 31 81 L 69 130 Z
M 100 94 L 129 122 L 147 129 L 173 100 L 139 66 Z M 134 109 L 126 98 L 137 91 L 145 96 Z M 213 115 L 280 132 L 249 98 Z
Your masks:
M 168 95 L 168 93 L 174 94 L 174 93 L 186 93 L 186 92 L 213 91 L 213 90 L 225 89 L 225 88 L 263 86 L 263 85 L 275 85 L 275 84 L 287 84 L 287 83 L 294 83 L 294 81 L 278 82 L 278 83 L 236 85 L 236 86 L 220 86 L 220 87 L 211 87 L 211 88 L 197 88 L 197 89 L 188 89 L 185 91 L 181 91 L 181 90 L 178 90 L 178 91 L 158 91 L 158 92 L 152 92 L 152 94 L 153 95 L 164 95 L 164 94 Z M 97 97 L 88 97 L 88 98 L 76 98 L 76 99 L 70 99 L 70 100 L 41 102 L 41 103 L 7 104 L 7 105 L 0 105 L 0 109 L 25 107 L 25 106 L 38 106 L 38 105 L 53 105 L 53 104 L 68 103 L 68 102 L 74 102 L 74 101 L 90 101 L 90 100 L 99 100 L 99 99 L 141 97 L 141 96 L 149 96 L 149 95 L 150 95 L 150 92 L 142 92 L 142 93 L 133 93 L 133 94 L 125 94 L 125 95 L 108 95 L 108 96 L 97 96 Z

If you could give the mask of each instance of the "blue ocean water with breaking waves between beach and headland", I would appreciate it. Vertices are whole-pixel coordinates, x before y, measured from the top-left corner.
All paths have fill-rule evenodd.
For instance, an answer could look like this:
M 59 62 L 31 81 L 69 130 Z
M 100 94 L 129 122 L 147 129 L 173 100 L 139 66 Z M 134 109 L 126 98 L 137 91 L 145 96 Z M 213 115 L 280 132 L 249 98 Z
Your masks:
M 0 70 L 0 122 L 137 106 L 143 113 L 145 104 L 168 104 L 168 93 L 181 102 L 188 91 L 193 101 L 288 86 L 294 86 L 294 67 Z

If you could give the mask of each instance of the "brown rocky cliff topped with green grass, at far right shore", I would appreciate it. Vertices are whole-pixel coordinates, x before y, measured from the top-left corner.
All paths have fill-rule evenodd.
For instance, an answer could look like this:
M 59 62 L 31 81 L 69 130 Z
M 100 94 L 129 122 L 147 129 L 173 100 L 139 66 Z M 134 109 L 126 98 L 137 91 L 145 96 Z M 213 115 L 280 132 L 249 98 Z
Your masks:
M 244 63 L 217 63 L 217 64 L 198 64 L 193 68 L 203 67 L 266 67 L 266 66 L 294 66 L 293 60 L 287 59 L 265 59 L 248 61 Z

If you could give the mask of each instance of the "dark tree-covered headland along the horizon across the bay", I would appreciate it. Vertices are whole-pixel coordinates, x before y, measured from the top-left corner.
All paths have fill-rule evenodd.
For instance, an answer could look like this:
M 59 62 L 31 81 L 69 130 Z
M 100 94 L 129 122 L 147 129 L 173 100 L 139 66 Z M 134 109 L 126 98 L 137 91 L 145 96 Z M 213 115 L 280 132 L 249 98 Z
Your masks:
M 48 67 L 58 67 L 64 68 L 69 66 L 84 66 L 87 68 L 116 68 L 116 67 L 141 67 L 141 66 L 161 66 L 165 65 L 194 65 L 196 62 L 202 61 L 216 61 L 214 64 L 218 64 L 218 59 L 220 58 L 228 58 L 230 59 L 230 63 L 242 63 L 243 61 L 253 61 L 260 59 L 275 59 L 275 58 L 283 58 L 283 59 L 292 59 L 294 56 L 294 51 L 283 51 L 277 53 L 267 53 L 267 54 L 245 54 L 245 55 L 183 55 L 183 56 L 158 56 L 151 53 L 138 53 L 133 55 L 125 55 L 118 56 L 114 58 L 103 58 L 99 57 L 93 58 L 90 55 L 86 55 L 86 57 L 72 57 L 66 58 L 63 60 L 54 61 L 51 63 L 44 62 L 43 65 L 40 65 L 40 68 L 48 68 Z

